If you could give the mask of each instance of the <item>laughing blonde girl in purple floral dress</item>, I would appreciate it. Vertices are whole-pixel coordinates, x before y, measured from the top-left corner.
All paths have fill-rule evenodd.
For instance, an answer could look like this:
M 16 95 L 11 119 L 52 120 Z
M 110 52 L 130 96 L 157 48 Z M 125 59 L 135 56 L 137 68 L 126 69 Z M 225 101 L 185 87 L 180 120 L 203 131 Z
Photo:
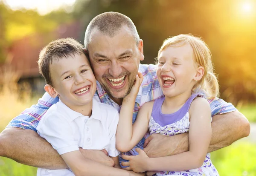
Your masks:
M 138 73 L 128 96 L 123 99 L 116 132 L 116 148 L 131 150 L 148 131 L 177 135 L 189 132 L 189 151 L 174 156 L 149 158 L 122 156 L 127 170 L 162 170 L 157 176 L 218 176 L 207 153 L 211 140 L 211 110 L 206 98 L 218 95 L 211 53 L 206 43 L 192 35 L 178 35 L 163 42 L 157 58 L 157 77 L 165 97 L 145 103 L 132 125 L 134 101 L 143 80 Z M 206 97 L 206 98 L 205 98 Z

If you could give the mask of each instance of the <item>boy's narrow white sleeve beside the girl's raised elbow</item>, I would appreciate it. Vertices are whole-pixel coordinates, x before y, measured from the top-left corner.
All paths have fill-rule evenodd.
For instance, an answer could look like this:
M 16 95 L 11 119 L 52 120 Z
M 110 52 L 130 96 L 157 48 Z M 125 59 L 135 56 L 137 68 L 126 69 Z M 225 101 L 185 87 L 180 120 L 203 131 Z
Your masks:
M 119 120 L 119 113 L 117 112 L 117 110 L 115 110 L 115 115 L 113 116 L 113 118 L 111 118 L 111 123 L 108 127 L 109 130 L 109 138 L 110 138 L 110 143 L 109 143 L 109 147 L 108 147 L 108 155 L 115 157 L 119 155 L 119 151 L 116 150 L 116 128 L 117 128 L 117 124 L 118 124 L 118 120 Z

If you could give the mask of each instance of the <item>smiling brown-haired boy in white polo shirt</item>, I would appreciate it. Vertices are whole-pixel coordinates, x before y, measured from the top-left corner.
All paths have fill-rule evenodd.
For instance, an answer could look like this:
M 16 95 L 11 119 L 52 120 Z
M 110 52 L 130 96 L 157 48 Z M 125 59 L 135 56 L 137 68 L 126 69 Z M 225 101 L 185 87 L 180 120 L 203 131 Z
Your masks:
M 114 107 L 93 99 L 96 79 L 83 46 L 71 38 L 52 41 L 42 49 L 38 65 L 47 82 L 44 89 L 52 98 L 59 98 L 41 118 L 38 134 L 52 144 L 70 169 L 38 168 L 37 176 L 137 175 L 85 159 L 79 151 L 79 147 L 105 149 L 119 164 L 115 138 L 119 114 Z

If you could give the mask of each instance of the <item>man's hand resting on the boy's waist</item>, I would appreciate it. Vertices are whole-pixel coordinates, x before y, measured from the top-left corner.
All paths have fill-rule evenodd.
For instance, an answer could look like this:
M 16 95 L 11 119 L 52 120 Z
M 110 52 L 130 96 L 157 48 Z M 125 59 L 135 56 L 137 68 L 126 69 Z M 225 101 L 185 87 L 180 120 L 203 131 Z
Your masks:
M 114 167 L 115 162 L 112 158 L 108 157 L 108 152 L 103 150 L 85 150 L 79 148 L 80 152 L 83 154 L 84 158 L 93 160 L 100 164 L 104 164 L 106 166 Z

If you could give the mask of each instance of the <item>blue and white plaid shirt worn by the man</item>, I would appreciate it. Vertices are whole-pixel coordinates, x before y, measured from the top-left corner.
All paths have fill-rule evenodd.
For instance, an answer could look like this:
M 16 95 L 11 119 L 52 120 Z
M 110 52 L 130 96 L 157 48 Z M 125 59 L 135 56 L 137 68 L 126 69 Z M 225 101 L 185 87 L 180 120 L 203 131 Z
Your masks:
M 154 101 L 157 98 L 163 97 L 162 89 L 157 80 L 156 66 L 153 64 L 150 64 L 150 65 L 140 64 L 139 72 L 143 74 L 144 79 L 143 79 L 143 83 L 140 86 L 140 90 L 135 101 L 133 122 L 135 121 L 137 113 L 143 104 L 145 104 L 148 101 Z M 116 104 L 113 100 L 111 100 L 111 98 L 108 96 L 107 92 L 105 92 L 105 90 L 101 87 L 99 82 L 97 82 L 97 90 L 94 95 L 94 98 L 102 103 L 110 104 L 111 106 L 115 107 L 118 111 L 120 111 L 121 107 L 118 104 Z M 49 107 L 52 106 L 52 104 L 55 104 L 58 101 L 59 101 L 58 97 L 51 98 L 48 95 L 48 93 L 45 93 L 43 97 L 38 100 L 38 104 L 32 105 L 32 107 L 24 110 L 20 115 L 15 117 L 8 124 L 7 127 L 19 127 L 23 129 L 30 129 L 30 130 L 36 131 L 36 127 L 41 117 L 46 113 Z M 236 110 L 236 108 L 231 103 L 227 103 L 224 100 L 219 98 L 215 98 L 208 101 L 211 107 L 212 116 L 217 114 L 229 113 Z M 143 148 L 144 141 L 145 141 L 145 138 L 143 138 L 137 144 L 136 147 Z M 131 155 L 130 152 L 126 152 L 125 154 Z

